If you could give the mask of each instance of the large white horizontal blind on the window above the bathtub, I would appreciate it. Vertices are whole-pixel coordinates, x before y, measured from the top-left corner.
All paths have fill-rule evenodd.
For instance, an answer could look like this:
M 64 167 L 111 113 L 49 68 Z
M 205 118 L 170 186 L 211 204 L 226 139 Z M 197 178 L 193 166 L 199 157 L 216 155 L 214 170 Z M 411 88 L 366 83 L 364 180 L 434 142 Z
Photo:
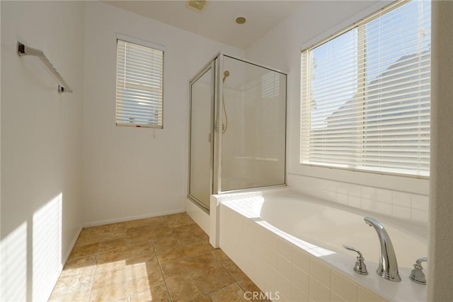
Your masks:
M 430 8 L 396 2 L 302 51 L 301 163 L 429 175 Z

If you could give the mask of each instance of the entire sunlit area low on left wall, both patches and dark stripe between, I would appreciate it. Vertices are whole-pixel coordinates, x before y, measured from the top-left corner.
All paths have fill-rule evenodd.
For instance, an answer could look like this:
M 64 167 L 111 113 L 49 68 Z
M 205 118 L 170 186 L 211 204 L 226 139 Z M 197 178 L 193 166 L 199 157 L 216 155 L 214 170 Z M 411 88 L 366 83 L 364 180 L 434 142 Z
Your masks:
M 1 301 L 47 300 L 62 269 L 62 193 L 3 236 Z

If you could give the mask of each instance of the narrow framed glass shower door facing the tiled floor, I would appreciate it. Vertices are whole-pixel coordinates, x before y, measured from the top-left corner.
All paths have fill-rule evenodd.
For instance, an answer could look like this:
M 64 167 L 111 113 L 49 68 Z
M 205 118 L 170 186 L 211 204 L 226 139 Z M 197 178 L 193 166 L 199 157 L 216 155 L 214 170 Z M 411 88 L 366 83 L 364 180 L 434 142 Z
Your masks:
M 190 83 L 189 197 L 205 209 L 212 192 L 212 66 Z

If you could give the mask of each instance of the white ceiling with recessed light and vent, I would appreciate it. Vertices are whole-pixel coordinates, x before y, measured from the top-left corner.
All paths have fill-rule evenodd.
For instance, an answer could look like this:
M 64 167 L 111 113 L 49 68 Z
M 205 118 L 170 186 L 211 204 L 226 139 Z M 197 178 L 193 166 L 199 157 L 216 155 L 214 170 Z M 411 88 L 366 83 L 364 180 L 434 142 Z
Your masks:
M 186 6 L 187 1 L 178 0 L 104 2 L 243 50 L 304 3 L 302 0 L 210 0 L 203 11 L 195 11 Z M 239 16 L 245 17 L 246 23 L 237 24 L 235 20 Z

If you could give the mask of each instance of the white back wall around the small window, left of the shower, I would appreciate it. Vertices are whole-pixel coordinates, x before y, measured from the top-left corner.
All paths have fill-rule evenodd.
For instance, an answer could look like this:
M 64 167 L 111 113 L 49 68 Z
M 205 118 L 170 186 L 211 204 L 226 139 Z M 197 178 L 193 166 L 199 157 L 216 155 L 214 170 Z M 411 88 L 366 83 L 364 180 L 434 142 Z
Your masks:
M 188 81 L 222 51 L 243 51 L 101 2 L 86 2 L 84 222 L 185 210 Z M 115 39 L 165 47 L 164 129 L 115 126 Z

